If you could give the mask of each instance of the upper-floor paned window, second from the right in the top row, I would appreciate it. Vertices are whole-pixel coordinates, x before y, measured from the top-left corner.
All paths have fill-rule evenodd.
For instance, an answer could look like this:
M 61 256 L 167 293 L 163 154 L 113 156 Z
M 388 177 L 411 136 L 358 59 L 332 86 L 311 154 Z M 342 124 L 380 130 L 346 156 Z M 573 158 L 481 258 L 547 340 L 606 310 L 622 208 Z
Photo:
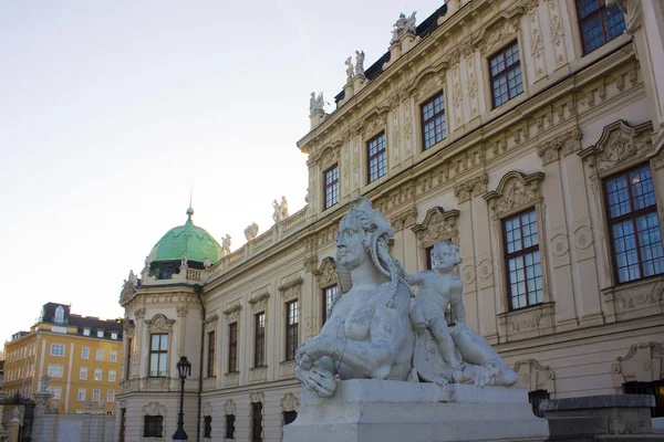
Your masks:
M 512 99 L 523 92 L 519 43 L 513 42 L 489 59 L 491 69 L 491 96 L 494 107 Z

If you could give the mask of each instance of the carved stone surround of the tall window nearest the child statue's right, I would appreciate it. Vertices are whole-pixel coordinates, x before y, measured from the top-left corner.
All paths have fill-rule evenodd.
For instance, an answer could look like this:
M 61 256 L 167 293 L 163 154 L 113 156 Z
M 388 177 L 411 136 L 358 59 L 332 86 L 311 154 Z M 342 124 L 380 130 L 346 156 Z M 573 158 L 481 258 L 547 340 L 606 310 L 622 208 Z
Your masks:
M 549 285 L 548 232 L 547 223 L 544 222 L 544 200 L 541 190 L 543 179 L 543 172 L 523 175 L 512 170 L 500 179 L 496 190 L 491 190 L 483 197 L 489 204 L 489 214 L 491 218 L 495 245 L 492 248 L 495 253 L 494 263 L 496 266 L 494 275 L 495 277 L 497 275 L 496 285 L 500 287 L 497 290 L 497 293 L 502 294 L 499 299 L 500 308 L 497 313 L 499 324 L 502 327 L 501 333 L 508 340 L 510 338 L 521 339 L 552 333 L 554 327 L 553 298 Z M 502 223 L 507 218 L 531 208 L 535 209 L 537 217 L 543 303 L 510 311 Z

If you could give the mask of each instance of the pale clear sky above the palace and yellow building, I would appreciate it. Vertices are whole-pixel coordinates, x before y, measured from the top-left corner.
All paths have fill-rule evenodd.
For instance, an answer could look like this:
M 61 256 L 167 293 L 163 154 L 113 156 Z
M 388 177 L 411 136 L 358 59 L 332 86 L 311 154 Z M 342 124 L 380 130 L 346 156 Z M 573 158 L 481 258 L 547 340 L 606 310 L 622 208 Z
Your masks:
M 273 199 L 304 206 L 309 94 L 443 0 L 0 1 L 0 338 L 46 302 L 102 318 L 129 270 L 194 222 L 231 250 Z M 326 110 L 331 112 L 332 106 Z

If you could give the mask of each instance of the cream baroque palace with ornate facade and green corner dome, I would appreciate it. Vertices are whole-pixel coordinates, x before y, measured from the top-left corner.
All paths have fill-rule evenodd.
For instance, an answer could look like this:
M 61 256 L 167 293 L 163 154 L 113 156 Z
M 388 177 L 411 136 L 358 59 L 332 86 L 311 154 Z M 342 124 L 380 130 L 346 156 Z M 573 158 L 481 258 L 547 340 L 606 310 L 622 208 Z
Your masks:
M 467 322 L 533 400 L 651 392 L 661 415 L 664 2 L 608 2 L 448 0 L 400 18 L 366 71 L 349 60 L 336 109 L 312 97 L 298 143 L 304 209 L 232 253 L 188 211 L 129 275 L 120 440 L 170 438 L 181 355 L 189 440 L 281 440 L 359 196 L 407 272 L 459 245 Z

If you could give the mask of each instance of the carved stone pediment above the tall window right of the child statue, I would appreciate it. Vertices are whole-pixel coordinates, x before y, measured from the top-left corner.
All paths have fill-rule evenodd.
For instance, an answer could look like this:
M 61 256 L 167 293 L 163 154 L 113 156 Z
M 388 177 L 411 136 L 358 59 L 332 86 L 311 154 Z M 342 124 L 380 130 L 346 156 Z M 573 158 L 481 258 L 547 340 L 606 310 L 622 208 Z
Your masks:
M 506 173 L 498 188 L 484 196 L 495 215 L 519 211 L 541 200 L 540 185 L 544 173 L 535 172 L 525 176 L 517 171 Z

